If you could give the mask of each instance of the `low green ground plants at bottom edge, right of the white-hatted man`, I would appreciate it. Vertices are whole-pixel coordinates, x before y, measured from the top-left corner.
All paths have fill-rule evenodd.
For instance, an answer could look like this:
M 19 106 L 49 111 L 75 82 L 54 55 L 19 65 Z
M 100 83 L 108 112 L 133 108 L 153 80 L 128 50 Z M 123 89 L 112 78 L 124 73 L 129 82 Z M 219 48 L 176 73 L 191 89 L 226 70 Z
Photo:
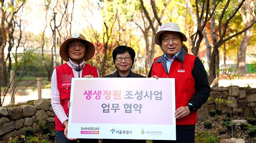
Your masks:
M 195 143 L 219 143 L 219 136 L 210 132 L 196 132 Z

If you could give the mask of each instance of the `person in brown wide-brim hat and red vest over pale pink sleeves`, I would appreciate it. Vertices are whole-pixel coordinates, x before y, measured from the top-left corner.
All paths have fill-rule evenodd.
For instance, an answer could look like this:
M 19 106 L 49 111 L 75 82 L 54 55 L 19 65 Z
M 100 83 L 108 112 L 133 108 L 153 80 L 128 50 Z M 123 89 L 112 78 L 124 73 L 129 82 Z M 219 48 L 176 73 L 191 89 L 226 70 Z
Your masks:
M 60 46 L 60 57 L 67 63 L 53 70 L 51 79 L 51 105 L 55 113 L 56 143 L 73 143 L 67 139 L 68 108 L 71 79 L 99 77 L 98 70 L 85 62 L 93 58 L 94 45 L 80 33 L 73 33 Z M 80 143 L 98 143 L 98 139 L 78 139 Z

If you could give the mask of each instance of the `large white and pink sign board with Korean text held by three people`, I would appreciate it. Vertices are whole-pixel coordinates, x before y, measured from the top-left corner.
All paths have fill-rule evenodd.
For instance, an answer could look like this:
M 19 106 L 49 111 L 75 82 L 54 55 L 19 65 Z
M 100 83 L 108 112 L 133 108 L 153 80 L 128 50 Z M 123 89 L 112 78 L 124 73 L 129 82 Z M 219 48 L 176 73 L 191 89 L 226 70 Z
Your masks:
M 133 134 L 136 130 L 140 134 L 147 132 L 144 128 L 150 125 L 158 125 L 163 132 L 170 131 L 168 128 L 175 126 L 174 90 L 174 78 L 72 78 L 68 136 L 150 140 L 152 136 L 116 137 L 107 134 L 110 134 L 110 130 L 114 131 L 114 128 L 110 129 L 112 126 L 117 125 L 120 128 L 128 125 L 129 130 L 121 131 Z M 104 129 L 106 125 L 111 127 Z M 77 130 L 79 132 L 76 133 Z M 165 136 L 168 133 L 161 133 L 154 138 L 163 140 Z

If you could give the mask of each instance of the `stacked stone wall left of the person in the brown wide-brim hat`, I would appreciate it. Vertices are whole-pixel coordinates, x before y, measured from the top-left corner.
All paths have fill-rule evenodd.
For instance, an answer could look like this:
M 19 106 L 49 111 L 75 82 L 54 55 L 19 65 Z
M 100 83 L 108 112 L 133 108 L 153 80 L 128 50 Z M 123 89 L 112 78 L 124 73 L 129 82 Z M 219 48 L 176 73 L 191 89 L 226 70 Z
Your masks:
M 0 107 L 0 140 L 25 135 L 26 129 L 39 133 L 40 127 L 47 126 L 54 130 L 54 115 L 50 99 Z

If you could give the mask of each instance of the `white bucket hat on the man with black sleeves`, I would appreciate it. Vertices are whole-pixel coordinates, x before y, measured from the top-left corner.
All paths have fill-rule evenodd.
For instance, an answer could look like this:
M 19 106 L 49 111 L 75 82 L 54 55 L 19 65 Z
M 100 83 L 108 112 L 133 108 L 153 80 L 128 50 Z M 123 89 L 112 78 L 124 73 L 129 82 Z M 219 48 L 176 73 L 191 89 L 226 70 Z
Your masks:
M 177 23 L 165 23 L 165 24 L 162 24 L 160 26 L 160 30 L 156 33 L 155 35 L 155 44 L 156 45 L 161 45 L 161 42 L 160 42 L 160 35 L 166 31 L 174 31 L 174 32 L 179 32 L 181 33 L 181 30 L 179 28 L 179 25 Z M 186 42 L 187 41 L 187 37 L 181 33 L 182 35 L 182 41 Z

